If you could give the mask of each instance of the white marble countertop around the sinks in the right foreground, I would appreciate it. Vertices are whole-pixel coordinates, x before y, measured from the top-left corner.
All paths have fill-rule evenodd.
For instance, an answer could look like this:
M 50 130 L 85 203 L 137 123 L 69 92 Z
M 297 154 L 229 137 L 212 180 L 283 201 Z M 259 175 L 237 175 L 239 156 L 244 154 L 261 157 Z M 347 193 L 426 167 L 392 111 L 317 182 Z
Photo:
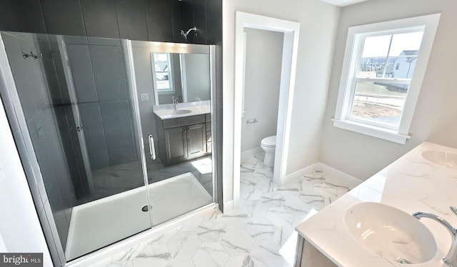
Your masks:
M 408 214 L 433 213 L 456 227 L 457 216 L 449 206 L 457 206 L 457 170 L 427 161 L 421 156 L 423 151 L 457 153 L 456 148 L 422 143 L 308 218 L 296 231 L 338 266 L 410 266 L 389 261 L 361 246 L 348 233 L 343 218 L 346 210 L 357 203 L 378 202 Z M 431 261 L 413 266 L 446 266 L 441 258 L 451 247 L 451 235 L 436 221 L 420 221 L 431 231 L 438 251 Z

